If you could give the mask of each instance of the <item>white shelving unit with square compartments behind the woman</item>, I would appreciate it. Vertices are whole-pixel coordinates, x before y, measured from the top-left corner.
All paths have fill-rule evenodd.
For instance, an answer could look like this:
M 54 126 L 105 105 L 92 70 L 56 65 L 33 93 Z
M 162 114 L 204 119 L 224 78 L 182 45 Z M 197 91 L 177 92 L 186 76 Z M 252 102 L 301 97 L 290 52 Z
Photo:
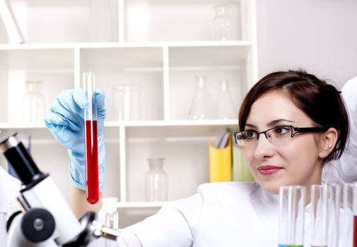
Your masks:
M 43 80 L 46 108 L 61 90 L 78 87 L 81 73 L 96 73 L 106 95 L 107 177 L 104 196 L 119 198 L 124 227 L 163 203 L 144 202 L 148 157 L 164 157 L 168 200 L 192 195 L 209 180 L 208 139 L 231 121 L 189 121 L 195 76 L 207 78 L 215 100 L 218 80 L 230 80 L 237 109 L 257 80 L 254 0 L 11 0 L 25 44 L 8 44 L 0 23 L 0 134 L 32 138 L 35 162 L 68 193 L 69 157 L 44 123 L 21 122 L 25 80 Z M 98 14 L 105 4 L 110 17 Z M 234 40 L 212 41 L 214 4 L 230 4 Z M 94 5 L 92 5 L 94 4 Z M 94 17 L 93 17 L 94 16 Z M 110 23 L 102 33 L 93 21 Z M 104 25 L 104 24 L 103 24 Z M 100 40 L 100 42 L 98 42 Z M 112 119 L 112 86 L 141 86 L 141 121 Z M 0 159 L 4 165 L 4 159 Z M 65 182 L 64 182 L 65 181 Z M 180 185 L 180 186 L 178 186 Z

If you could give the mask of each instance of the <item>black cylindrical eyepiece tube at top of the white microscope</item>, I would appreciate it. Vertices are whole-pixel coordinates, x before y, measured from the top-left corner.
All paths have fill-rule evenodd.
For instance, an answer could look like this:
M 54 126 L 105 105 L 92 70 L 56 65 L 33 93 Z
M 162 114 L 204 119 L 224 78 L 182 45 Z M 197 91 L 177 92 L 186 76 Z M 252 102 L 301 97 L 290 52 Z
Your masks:
M 18 178 L 23 182 L 23 185 L 28 186 L 44 176 L 37 168 L 23 143 L 21 143 L 17 133 L 1 142 L 0 149 L 4 152 L 6 159 L 15 170 Z

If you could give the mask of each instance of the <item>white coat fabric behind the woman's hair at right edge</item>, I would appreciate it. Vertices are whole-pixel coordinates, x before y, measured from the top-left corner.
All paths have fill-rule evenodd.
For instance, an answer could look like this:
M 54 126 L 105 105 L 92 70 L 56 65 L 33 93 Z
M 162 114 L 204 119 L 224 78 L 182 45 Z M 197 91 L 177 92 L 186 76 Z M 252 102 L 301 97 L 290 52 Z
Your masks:
M 357 77 L 347 81 L 341 96 L 349 115 L 349 140 L 340 159 L 333 160 L 332 166 L 342 182 L 357 181 Z M 328 181 L 328 180 L 327 180 Z

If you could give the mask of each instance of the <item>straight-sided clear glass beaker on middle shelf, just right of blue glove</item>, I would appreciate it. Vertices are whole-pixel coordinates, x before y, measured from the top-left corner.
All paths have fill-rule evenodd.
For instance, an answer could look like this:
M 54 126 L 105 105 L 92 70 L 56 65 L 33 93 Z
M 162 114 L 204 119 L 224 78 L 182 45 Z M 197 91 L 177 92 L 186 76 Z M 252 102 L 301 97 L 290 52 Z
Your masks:
M 114 121 L 141 119 L 141 88 L 138 85 L 112 87 L 112 118 Z

